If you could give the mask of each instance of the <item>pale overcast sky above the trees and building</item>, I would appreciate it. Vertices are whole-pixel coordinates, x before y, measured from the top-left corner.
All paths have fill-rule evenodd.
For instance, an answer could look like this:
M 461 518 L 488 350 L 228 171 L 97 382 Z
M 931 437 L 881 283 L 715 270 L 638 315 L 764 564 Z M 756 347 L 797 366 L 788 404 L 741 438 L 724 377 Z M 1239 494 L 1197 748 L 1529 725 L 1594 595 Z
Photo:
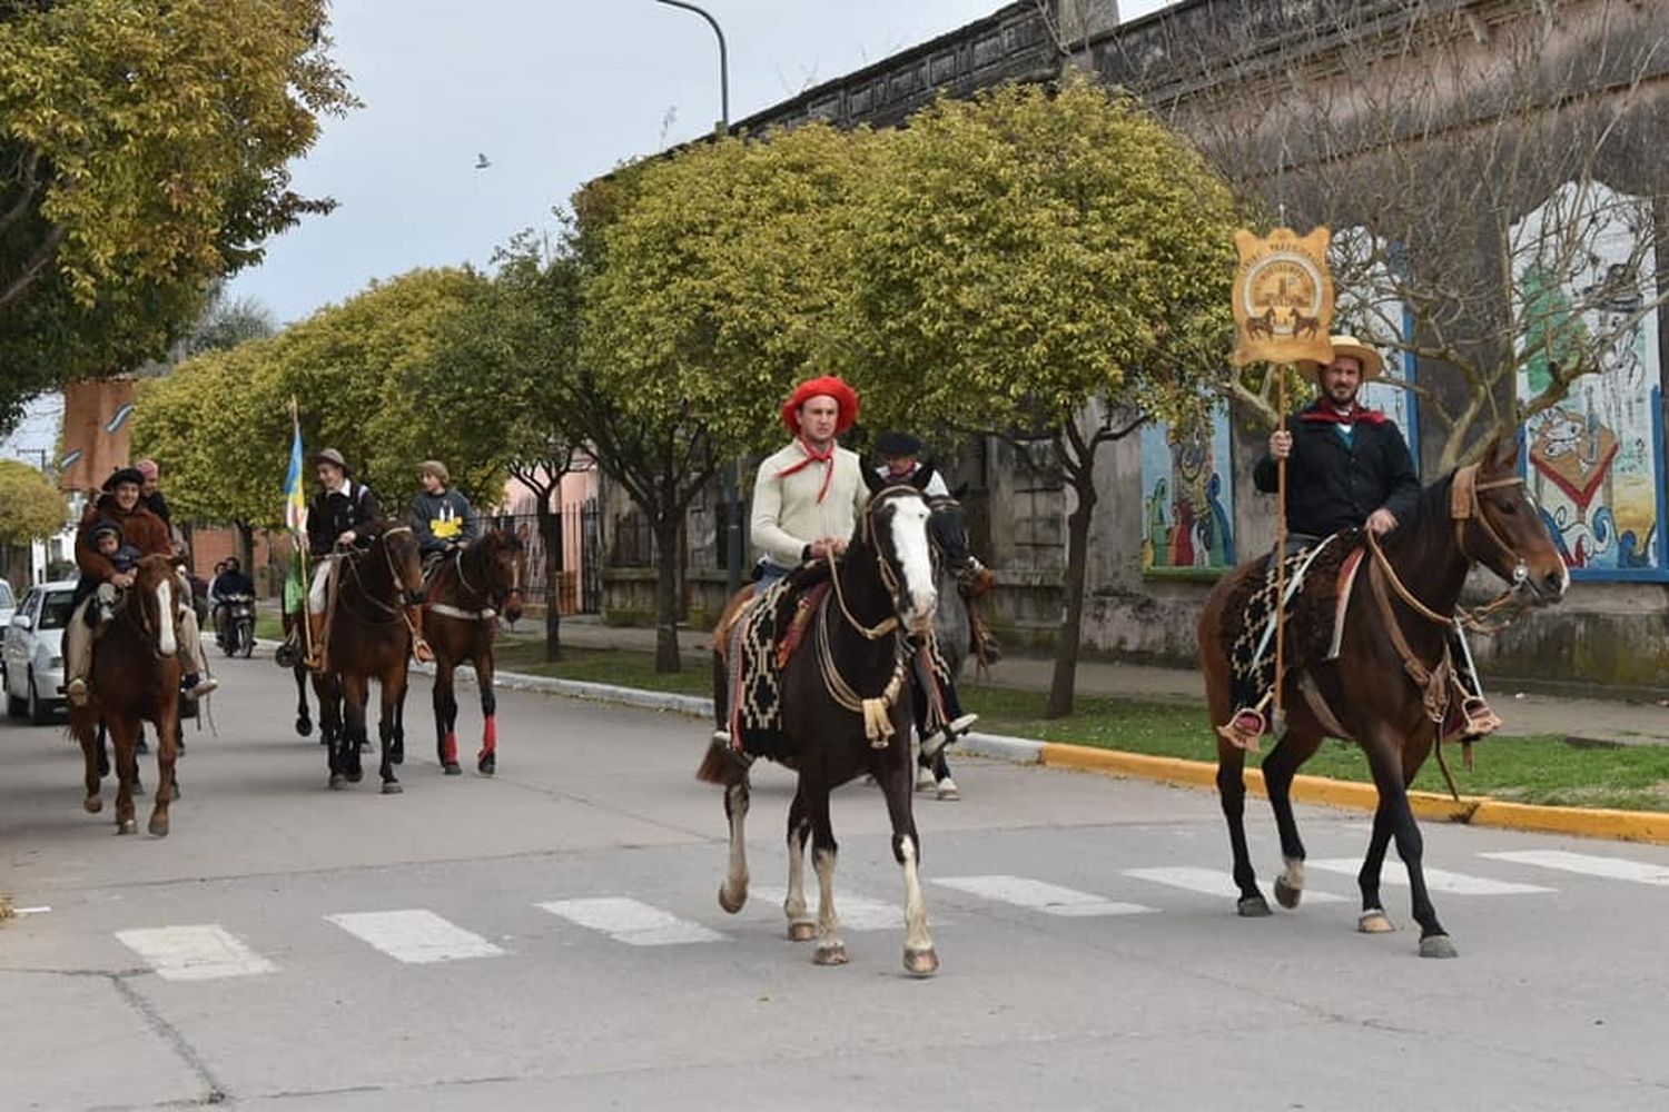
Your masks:
M 736 120 L 1003 7 L 698 2 L 724 28 Z M 582 182 L 719 118 L 713 30 L 653 0 L 335 0 L 330 33 L 366 107 L 324 122 L 295 188 L 340 207 L 272 240 L 230 290 L 280 322 L 414 267 L 486 267 L 517 230 L 554 227 Z

